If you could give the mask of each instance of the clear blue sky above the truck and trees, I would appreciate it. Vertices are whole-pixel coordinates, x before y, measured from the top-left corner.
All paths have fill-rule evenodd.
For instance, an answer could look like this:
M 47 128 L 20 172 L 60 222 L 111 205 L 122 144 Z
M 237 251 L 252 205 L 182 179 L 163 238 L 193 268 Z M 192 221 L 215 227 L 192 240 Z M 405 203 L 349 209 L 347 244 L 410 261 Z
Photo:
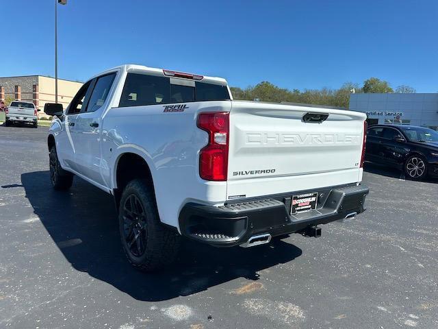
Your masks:
M 0 76 L 54 75 L 53 10 L 54 0 L 1 0 Z M 68 0 L 58 17 L 59 76 L 70 80 L 135 63 L 240 87 L 374 76 L 438 91 L 436 0 Z

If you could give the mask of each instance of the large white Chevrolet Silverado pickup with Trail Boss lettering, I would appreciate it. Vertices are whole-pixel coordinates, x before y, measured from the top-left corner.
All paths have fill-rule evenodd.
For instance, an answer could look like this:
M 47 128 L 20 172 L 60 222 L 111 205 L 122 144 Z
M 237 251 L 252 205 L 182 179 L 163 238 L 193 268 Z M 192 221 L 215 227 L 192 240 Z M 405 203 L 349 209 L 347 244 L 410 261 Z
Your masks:
M 179 238 L 250 247 L 365 210 L 365 114 L 233 101 L 227 82 L 124 65 L 54 115 L 54 188 L 73 175 L 114 195 L 129 261 L 170 263 Z

